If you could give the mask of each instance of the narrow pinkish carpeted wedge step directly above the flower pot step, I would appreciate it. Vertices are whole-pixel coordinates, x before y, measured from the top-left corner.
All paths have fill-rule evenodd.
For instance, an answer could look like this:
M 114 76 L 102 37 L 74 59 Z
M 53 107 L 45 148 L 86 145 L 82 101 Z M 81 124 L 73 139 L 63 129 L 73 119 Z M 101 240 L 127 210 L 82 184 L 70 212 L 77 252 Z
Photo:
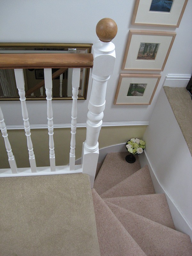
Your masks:
M 155 189 L 147 165 L 141 168 L 139 171 L 133 173 L 128 178 L 119 182 L 113 188 L 108 189 L 100 196 L 102 198 L 107 198 L 119 196 L 137 196 L 145 194 L 155 194 Z

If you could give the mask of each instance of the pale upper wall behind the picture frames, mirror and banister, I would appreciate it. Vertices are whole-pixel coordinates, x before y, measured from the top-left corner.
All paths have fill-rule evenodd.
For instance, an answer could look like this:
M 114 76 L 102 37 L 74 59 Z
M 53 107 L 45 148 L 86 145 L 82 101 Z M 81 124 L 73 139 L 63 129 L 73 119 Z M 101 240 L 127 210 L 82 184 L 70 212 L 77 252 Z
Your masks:
M 94 43 L 98 40 L 95 33 L 97 22 L 104 17 L 114 19 L 118 26 L 117 36 L 113 40 L 116 45 L 116 65 L 114 74 L 108 81 L 103 121 L 148 121 L 165 76 L 167 74 L 191 74 L 192 1 L 188 1 L 180 27 L 176 29 L 132 26 L 134 3 L 134 0 L 1 0 L 0 42 Z M 175 31 L 177 33 L 150 106 L 113 105 L 129 29 Z M 89 93 L 90 86 L 88 96 Z M 44 101 L 36 101 L 35 103 L 28 101 L 27 105 L 30 124 L 47 123 L 46 103 Z M 88 100 L 79 101 L 77 123 L 86 122 L 87 105 Z M 1 107 L 6 125 L 23 123 L 19 102 L 1 102 Z M 71 101 L 54 101 L 54 124 L 70 123 L 70 108 Z M 17 112 L 19 114 L 15 114 Z

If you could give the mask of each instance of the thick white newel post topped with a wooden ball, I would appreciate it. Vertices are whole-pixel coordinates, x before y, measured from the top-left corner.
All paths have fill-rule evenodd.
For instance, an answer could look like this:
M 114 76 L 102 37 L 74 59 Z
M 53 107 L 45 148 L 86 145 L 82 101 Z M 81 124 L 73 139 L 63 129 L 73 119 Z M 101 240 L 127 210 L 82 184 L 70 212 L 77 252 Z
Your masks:
M 86 140 L 82 150 L 83 173 L 89 174 L 91 187 L 99 157 L 98 138 L 105 109 L 107 81 L 113 74 L 116 59 L 115 45 L 110 41 L 116 36 L 117 25 L 114 20 L 104 18 L 98 22 L 96 33 L 100 40 L 93 44 L 92 87 L 88 104 Z

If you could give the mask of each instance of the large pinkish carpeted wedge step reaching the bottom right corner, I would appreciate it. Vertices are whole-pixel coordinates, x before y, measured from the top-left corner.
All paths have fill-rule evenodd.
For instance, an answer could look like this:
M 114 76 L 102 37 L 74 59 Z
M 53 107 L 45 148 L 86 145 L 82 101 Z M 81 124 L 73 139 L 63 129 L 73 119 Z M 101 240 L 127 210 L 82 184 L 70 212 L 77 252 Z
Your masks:
M 191 256 L 190 237 L 106 201 L 132 238 L 148 256 Z

